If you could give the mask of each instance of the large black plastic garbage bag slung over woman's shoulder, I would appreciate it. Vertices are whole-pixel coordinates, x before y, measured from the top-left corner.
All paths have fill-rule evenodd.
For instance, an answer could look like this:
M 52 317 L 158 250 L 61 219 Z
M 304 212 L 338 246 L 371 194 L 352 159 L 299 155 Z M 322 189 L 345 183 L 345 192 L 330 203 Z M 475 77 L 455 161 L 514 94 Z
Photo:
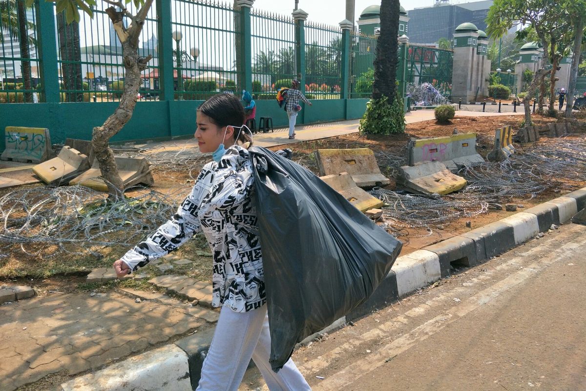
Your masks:
M 301 165 L 248 151 L 276 372 L 297 342 L 369 298 L 402 244 Z

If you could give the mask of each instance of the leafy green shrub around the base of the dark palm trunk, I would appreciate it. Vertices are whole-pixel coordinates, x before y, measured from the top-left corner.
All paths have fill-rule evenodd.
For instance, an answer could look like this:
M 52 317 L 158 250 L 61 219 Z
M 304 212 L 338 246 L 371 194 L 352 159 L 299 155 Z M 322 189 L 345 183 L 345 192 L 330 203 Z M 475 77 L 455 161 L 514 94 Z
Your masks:
M 397 91 L 392 104 L 383 96 L 380 99 L 371 99 L 366 104 L 366 111 L 359 126 L 362 134 L 393 134 L 405 131 L 405 114 L 403 113 L 403 98 Z

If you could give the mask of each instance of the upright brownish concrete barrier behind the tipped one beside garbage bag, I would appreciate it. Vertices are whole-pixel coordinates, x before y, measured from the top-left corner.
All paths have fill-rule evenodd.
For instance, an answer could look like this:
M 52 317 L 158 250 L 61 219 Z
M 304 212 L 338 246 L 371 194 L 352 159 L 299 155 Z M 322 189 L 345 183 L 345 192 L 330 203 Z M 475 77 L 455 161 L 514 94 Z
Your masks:
M 380 172 L 374 152 L 368 148 L 316 149 L 319 175 L 347 172 L 360 188 L 389 185 L 391 181 Z

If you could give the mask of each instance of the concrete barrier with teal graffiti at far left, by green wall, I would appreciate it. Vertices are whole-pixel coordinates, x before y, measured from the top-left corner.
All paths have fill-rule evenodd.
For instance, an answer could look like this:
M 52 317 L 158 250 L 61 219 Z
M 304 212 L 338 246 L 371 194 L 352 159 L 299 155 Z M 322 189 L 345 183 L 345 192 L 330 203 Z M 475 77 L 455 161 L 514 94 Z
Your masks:
M 7 126 L 4 138 L 2 160 L 40 163 L 54 156 L 49 129 Z

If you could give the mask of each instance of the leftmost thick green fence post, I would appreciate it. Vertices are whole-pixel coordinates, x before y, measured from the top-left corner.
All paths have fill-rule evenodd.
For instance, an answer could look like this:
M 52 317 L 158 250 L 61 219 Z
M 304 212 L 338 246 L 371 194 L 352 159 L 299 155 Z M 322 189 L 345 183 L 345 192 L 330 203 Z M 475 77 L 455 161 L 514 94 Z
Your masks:
M 37 9 L 37 29 L 39 50 L 39 73 L 43 87 L 43 100 L 46 103 L 59 103 L 59 72 L 57 72 L 57 45 L 55 36 L 55 14 L 52 2 L 38 1 Z

